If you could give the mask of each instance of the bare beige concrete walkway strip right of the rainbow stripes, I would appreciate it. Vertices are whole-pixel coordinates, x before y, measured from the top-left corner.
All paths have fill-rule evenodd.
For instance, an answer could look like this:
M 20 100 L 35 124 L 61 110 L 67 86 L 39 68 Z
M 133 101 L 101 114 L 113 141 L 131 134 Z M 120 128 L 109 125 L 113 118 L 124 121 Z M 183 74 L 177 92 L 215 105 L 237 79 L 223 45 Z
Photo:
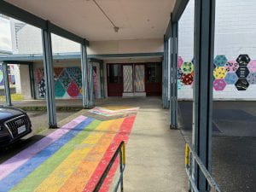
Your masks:
M 158 99 L 137 103 L 141 108 L 127 145 L 125 191 L 188 191 L 185 143 L 179 131 L 169 129 L 169 111 L 161 108 Z

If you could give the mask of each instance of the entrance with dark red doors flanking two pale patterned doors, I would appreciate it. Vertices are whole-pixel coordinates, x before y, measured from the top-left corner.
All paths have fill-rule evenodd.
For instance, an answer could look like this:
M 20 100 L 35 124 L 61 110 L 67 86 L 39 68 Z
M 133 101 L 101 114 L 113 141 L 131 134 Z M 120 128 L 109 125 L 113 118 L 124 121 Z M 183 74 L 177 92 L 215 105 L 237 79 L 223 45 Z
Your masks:
M 160 63 L 107 64 L 108 96 L 160 96 Z

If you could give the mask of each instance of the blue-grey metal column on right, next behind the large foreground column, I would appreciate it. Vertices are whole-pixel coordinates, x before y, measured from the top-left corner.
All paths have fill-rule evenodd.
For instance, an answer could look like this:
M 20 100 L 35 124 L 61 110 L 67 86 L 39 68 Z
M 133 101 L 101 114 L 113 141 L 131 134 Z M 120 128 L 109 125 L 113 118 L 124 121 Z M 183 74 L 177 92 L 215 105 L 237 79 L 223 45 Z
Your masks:
M 170 128 L 177 129 L 177 22 L 172 22 L 171 38 Z

